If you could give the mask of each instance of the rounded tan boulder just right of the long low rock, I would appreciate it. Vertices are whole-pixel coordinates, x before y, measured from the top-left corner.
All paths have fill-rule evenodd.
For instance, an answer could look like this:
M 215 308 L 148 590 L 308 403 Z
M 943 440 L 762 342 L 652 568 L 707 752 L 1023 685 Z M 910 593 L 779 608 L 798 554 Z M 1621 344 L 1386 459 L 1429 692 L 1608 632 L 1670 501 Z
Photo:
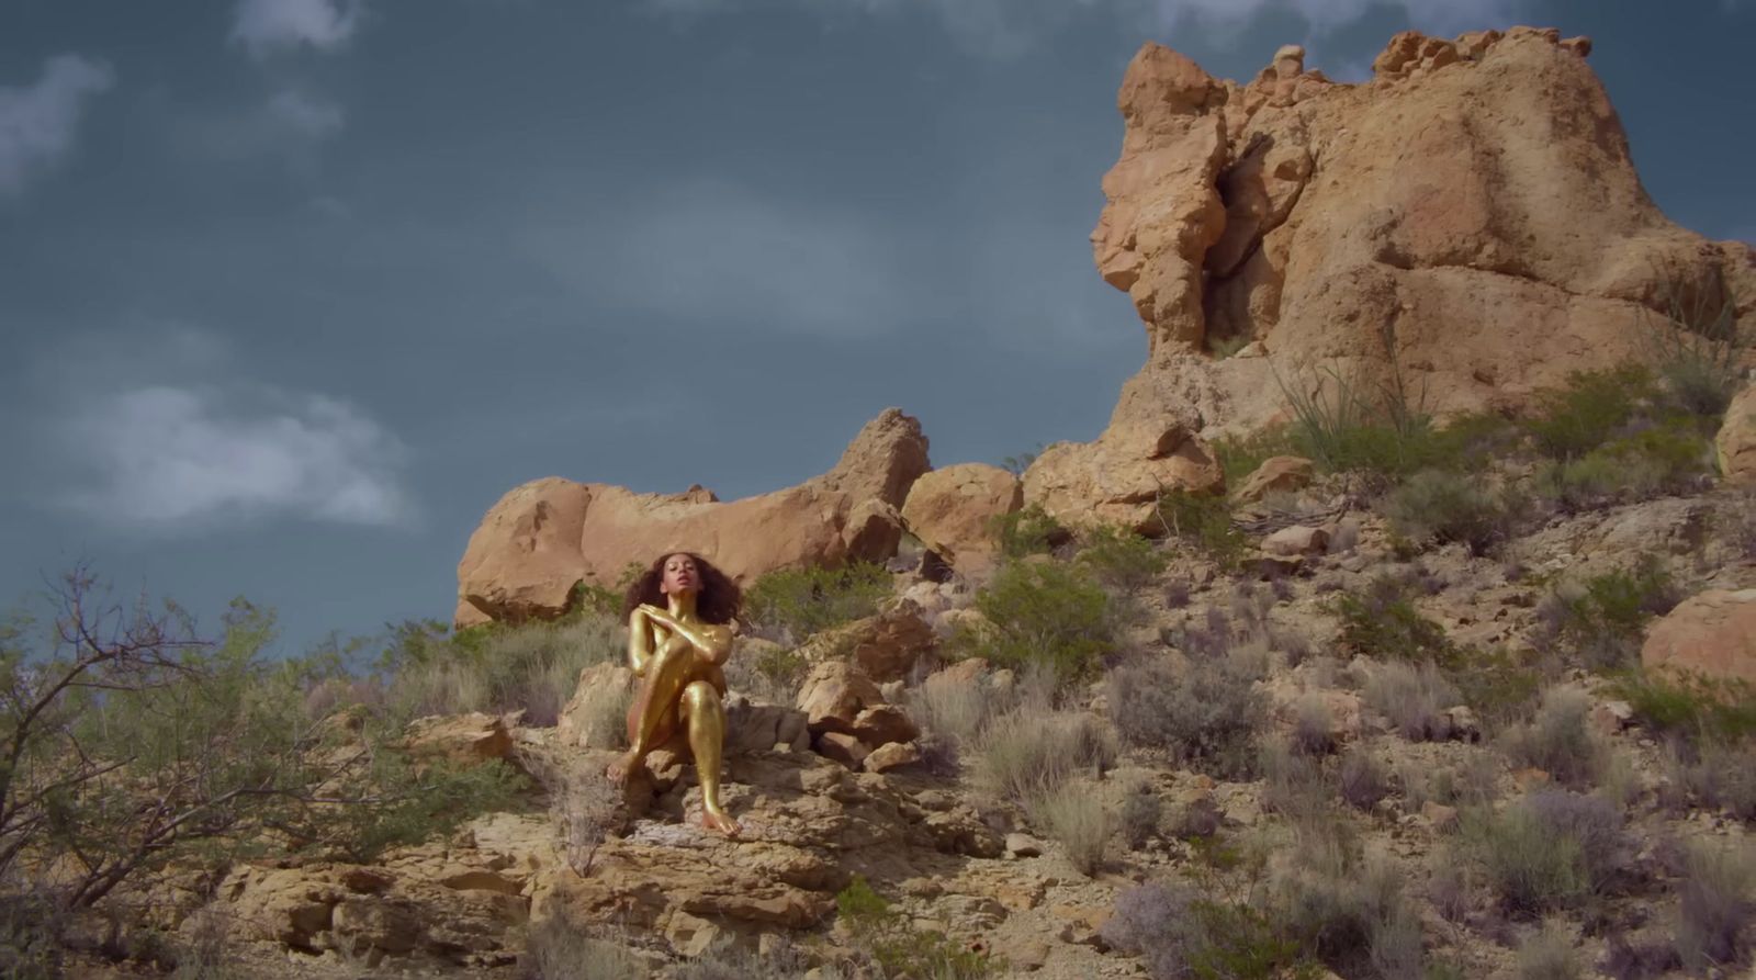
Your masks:
M 903 504 L 903 523 L 964 574 L 992 571 L 997 544 L 989 523 L 1024 506 L 1018 478 L 987 464 L 959 464 L 924 474 Z

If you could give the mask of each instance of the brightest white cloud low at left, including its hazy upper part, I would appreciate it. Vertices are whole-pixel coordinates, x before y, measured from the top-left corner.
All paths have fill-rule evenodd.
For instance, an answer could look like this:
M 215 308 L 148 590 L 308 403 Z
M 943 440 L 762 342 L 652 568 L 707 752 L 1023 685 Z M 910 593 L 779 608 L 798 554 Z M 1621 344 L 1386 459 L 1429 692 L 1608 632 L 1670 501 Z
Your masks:
M 249 374 L 223 337 L 184 325 L 56 342 L 30 358 L 5 406 L 39 460 L 18 474 L 19 492 L 153 534 L 416 520 L 409 450 L 393 432 L 342 399 Z

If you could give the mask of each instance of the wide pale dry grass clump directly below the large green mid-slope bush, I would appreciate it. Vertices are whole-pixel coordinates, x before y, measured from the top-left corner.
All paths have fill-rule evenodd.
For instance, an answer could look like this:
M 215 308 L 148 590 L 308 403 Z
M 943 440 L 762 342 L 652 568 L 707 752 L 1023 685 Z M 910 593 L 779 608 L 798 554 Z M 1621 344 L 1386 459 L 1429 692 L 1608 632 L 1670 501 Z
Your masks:
M 1033 811 L 1080 775 L 1115 762 L 1115 746 L 1098 718 L 1055 711 L 1013 711 L 989 725 L 980 743 L 978 782 Z

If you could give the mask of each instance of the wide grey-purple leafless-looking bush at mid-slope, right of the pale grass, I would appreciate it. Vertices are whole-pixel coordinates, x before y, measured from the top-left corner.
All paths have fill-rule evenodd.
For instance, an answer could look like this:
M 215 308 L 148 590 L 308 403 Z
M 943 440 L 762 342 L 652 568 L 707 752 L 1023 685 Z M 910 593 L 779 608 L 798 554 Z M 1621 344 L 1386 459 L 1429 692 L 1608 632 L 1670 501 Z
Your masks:
M 1254 688 L 1257 676 L 1234 657 L 1182 671 L 1164 660 L 1124 666 L 1110 673 L 1110 718 L 1133 745 L 1169 750 L 1213 776 L 1243 778 L 1268 711 Z

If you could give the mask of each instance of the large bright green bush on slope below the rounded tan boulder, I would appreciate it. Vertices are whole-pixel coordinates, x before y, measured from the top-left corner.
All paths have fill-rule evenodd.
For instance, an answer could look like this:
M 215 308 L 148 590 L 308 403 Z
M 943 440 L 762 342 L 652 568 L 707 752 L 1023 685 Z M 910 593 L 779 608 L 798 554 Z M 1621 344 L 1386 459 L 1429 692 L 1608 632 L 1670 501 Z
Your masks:
M 1113 648 L 1110 597 L 1082 569 L 1013 562 L 976 594 L 985 629 L 954 638 L 954 648 L 1008 667 L 1052 666 L 1062 680 L 1098 666 Z

